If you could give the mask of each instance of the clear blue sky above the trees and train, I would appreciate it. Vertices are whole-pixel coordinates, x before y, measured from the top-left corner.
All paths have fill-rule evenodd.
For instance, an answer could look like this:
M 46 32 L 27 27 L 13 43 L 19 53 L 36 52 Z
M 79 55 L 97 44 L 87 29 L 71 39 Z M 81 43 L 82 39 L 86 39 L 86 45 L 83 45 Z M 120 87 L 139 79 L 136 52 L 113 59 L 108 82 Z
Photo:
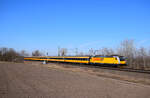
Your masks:
M 56 55 L 125 39 L 150 47 L 149 0 L 0 0 L 0 47 Z

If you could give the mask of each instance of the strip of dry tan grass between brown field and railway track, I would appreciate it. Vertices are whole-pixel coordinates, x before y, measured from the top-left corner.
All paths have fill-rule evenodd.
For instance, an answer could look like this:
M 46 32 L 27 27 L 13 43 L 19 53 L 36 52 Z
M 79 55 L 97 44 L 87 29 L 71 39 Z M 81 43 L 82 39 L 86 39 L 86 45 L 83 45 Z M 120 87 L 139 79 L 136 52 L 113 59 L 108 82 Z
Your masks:
M 130 76 L 130 75 L 122 75 L 121 71 L 119 72 L 120 74 L 115 74 L 109 71 L 103 71 L 103 70 L 100 71 L 96 68 L 85 68 L 85 67 L 68 65 L 68 64 L 49 63 L 49 64 L 43 65 L 42 63 L 39 63 L 39 62 L 31 62 L 31 64 L 34 64 L 34 65 L 40 64 L 41 66 L 48 67 L 50 69 L 64 70 L 68 72 L 69 71 L 82 72 L 82 73 L 87 73 L 87 74 L 100 76 L 100 77 L 106 77 L 106 78 L 118 79 L 118 80 L 133 82 L 133 83 L 141 83 L 141 84 L 150 85 L 150 79 L 148 78 L 142 78 L 142 77 L 137 78 L 137 77 Z M 133 74 L 136 74 L 136 73 L 133 73 Z

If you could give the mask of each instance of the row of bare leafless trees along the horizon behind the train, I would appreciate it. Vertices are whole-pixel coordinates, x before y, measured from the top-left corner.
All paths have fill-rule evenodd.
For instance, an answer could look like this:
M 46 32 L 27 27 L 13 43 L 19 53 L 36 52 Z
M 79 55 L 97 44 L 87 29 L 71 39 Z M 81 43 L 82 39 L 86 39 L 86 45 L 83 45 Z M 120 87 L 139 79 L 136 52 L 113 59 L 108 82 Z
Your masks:
M 136 47 L 134 40 L 124 40 L 118 48 L 100 48 L 89 49 L 88 53 L 79 52 L 75 49 L 75 56 L 95 56 L 95 55 L 121 55 L 127 58 L 128 67 L 137 69 L 150 68 L 150 49 L 145 47 Z M 39 50 L 35 50 L 29 54 L 25 50 L 17 52 L 13 48 L 0 48 L 0 61 L 23 61 L 23 57 L 27 56 L 48 56 Z M 58 56 L 69 56 L 67 48 L 58 48 Z

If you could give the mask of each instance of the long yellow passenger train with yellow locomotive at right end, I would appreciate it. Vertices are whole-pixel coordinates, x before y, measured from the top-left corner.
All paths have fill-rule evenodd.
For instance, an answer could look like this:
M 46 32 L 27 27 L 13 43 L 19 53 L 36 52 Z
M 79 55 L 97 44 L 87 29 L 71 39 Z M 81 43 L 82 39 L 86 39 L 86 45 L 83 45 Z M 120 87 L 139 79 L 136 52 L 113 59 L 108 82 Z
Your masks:
M 25 61 L 65 62 L 91 65 L 108 65 L 114 67 L 127 66 L 126 58 L 119 55 L 110 56 L 43 56 L 24 57 Z

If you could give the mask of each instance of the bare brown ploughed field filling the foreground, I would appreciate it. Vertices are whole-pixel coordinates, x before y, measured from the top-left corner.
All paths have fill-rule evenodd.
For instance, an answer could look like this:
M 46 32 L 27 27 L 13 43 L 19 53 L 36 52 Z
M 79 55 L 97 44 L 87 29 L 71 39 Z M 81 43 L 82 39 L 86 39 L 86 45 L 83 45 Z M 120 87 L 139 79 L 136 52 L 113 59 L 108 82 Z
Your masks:
M 0 98 L 150 98 L 150 86 L 41 66 L 0 63 Z

